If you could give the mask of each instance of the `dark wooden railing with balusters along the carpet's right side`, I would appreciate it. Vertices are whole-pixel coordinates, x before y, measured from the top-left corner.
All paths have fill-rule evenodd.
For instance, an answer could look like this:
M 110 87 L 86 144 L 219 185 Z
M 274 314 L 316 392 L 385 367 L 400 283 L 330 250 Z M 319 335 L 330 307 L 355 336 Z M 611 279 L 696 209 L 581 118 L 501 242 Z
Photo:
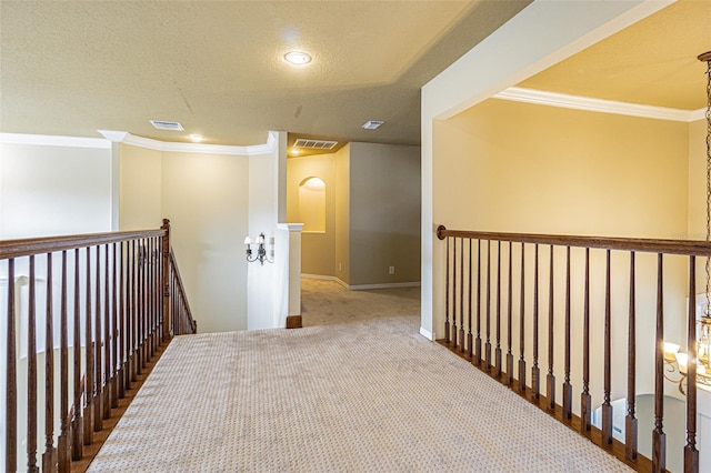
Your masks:
M 441 343 L 639 471 L 667 467 L 664 326 L 673 320 L 665 313 L 665 296 L 677 298 L 679 336 L 689 359 L 685 379 L 679 380 L 685 383 L 683 469 L 699 471 L 695 268 L 698 258 L 711 256 L 710 243 L 444 227 L 437 234 L 445 242 Z M 652 300 L 641 301 L 641 293 Z M 641 302 L 651 309 L 641 310 Z M 613 336 L 623 340 L 624 350 L 617 343 L 613 351 Z M 642 372 L 647 392 L 654 395 L 653 430 L 642 432 L 651 436 L 651 460 L 638 452 L 635 397 Z M 574 389 L 580 395 L 575 404 Z M 622 442 L 613 435 L 613 392 L 627 397 Z M 593 394 L 602 401 L 600 429 L 591 420 Z

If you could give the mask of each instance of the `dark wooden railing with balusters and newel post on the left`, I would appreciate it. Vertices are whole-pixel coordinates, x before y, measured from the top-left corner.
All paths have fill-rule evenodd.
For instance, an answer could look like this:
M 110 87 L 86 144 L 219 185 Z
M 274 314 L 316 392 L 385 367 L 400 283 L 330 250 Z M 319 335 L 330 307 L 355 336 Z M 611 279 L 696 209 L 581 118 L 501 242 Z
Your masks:
M 0 241 L 0 276 L 1 466 L 38 471 L 43 442 L 42 471 L 71 471 L 149 362 L 174 334 L 196 332 L 170 223 Z

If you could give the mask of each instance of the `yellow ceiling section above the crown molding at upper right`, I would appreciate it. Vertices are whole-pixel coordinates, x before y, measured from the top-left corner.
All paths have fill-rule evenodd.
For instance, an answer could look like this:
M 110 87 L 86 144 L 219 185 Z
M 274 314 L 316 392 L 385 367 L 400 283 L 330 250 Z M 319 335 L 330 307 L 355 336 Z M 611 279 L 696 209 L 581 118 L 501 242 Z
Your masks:
M 705 108 L 711 1 L 681 0 L 519 87 L 682 110 Z

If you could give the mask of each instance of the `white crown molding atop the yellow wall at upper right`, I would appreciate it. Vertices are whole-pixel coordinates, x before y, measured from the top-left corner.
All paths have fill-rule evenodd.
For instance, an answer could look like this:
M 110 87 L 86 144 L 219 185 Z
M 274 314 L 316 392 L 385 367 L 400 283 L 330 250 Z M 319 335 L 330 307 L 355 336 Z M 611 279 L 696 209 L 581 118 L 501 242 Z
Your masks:
M 614 100 L 591 99 L 588 97 L 569 95 L 567 93 L 545 92 L 534 89 L 511 87 L 493 95 L 494 99 L 512 100 L 515 102 L 535 103 L 539 105 L 560 107 L 564 109 L 584 110 L 600 113 L 614 113 L 629 117 L 641 117 L 655 120 L 691 122 L 703 118 L 705 109 L 681 110 L 665 107 L 640 105 L 637 103 L 618 102 Z M 697 115 L 701 117 L 697 118 Z

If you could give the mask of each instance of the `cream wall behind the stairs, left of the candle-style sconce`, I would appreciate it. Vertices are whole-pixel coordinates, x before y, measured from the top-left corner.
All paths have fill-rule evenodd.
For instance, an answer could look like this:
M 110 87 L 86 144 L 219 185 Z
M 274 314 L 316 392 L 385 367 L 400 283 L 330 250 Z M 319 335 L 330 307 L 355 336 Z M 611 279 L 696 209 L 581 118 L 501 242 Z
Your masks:
M 200 332 L 247 328 L 246 157 L 163 153 L 162 209 Z

